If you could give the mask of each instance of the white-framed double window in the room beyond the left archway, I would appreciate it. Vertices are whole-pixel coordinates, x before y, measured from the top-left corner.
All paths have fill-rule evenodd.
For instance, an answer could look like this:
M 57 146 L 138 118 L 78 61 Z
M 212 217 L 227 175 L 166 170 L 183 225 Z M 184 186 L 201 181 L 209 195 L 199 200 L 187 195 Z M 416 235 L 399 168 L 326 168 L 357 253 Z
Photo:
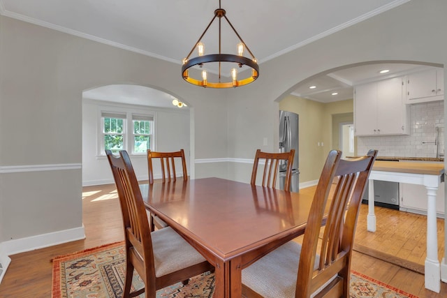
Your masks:
M 154 117 L 131 112 L 101 112 L 101 155 L 105 149 L 117 154 L 126 150 L 129 154 L 146 154 L 154 149 Z

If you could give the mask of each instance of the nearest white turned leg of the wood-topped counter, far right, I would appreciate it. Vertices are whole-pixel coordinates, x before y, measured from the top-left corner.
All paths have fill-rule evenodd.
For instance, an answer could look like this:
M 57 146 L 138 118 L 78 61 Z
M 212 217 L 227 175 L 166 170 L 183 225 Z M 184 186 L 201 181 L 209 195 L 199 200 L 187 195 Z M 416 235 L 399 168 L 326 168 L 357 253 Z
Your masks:
M 436 193 L 438 188 L 427 188 L 427 258 L 425 258 L 425 288 L 439 293 L 441 270 L 438 258 Z

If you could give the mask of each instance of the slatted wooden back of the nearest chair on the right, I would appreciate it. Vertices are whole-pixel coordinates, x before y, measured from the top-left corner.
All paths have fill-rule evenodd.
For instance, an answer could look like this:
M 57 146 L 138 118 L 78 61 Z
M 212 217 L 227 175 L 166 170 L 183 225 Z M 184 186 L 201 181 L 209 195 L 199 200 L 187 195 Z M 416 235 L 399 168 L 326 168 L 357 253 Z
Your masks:
M 341 151 L 328 155 L 302 241 L 296 297 L 310 297 L 332 277 L 335 279 L 318 297 L 328 292 L 335 293 L 334 297 L 349 297 L 358 210 L 376 155 L 376 150 L 370 150 L 366 156 L 351 161 L 342 160 Z M 318 241 L 321 229 L 323 236 Z M 317 251 L 320 260 L 314 269 Z

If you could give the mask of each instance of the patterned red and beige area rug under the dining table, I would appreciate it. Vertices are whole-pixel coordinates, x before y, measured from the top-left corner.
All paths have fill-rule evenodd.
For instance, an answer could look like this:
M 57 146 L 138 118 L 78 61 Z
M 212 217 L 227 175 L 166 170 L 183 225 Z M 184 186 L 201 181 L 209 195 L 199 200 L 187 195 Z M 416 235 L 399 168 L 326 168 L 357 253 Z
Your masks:
M 125 275 L 124 243 L 108 244 L 53 260 L 53 298 L 118 298 L 122 295 Z M 134 274 L 133 287 L 142 281 Z M 157 298 L 212 297 L 214 274 L 205 273 L 191 278 L 188 285 L 177 283 L 156 293 Z M 351 298 L 417 298 L 402 290 L 352 272 Z M 145 297 L 144 294 L 139 296 Z

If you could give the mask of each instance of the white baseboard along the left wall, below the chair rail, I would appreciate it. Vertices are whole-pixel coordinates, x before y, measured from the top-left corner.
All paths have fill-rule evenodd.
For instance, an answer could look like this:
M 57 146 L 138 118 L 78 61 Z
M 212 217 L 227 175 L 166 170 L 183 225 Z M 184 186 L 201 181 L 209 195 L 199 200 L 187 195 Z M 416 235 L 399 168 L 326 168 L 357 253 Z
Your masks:
M 26 251 L 63 244 L 66 242 L 85 239 L 84 225 L 80 228 L 73 228 L 47 234 L 40 234 L 31 237 L 4 241 L 0 244 L 5 255 L 15 255 Z

